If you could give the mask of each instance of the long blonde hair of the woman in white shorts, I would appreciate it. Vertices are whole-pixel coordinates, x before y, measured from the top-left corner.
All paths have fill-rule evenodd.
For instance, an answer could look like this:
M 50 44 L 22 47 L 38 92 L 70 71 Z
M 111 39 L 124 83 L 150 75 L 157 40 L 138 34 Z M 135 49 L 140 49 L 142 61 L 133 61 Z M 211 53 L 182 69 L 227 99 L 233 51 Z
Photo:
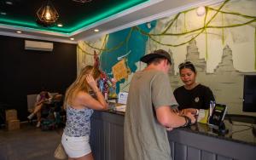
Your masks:
M 65 94 L 64 100 L 64 109 L 67 109 L 68 105 L 73 104 L 73 100 L 77 96 L 80 91 L 84 91 L 86 93 L 89 92 L 90 86 L 86 81 L 86 75 L 91 74 L 91 76 L 96 79 L 100 77 L 101 71 L 98 68 L 94 68 L 93 66 L 85 66 L 79 73 L 79 77 L 69 86 Z

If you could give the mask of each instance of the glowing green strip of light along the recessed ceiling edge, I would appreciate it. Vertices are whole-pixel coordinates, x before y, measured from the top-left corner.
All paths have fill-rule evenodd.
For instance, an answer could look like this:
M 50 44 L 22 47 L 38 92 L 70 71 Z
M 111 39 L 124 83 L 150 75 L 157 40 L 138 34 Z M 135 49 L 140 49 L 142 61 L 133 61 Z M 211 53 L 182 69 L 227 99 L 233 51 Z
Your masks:
M 143 4 L 148 2 L 149 0 L 129 0 L 126 3 L 119 4 L 115 6 L 113 9 L 109 9 L 107 12 L 102 12 L 96 16 L 89 18 L 88 20 L 83 20 L 72 27 L 43 27 L 38 26 L 35 21 L 21 21 L 21 20 L 9 20 L 8 18 L 4 19 L 0 17 L 0 23 L 10 26 L 16 27 L 25 27 L 28 29 L 34 29 L 38 31 L 54 31 L 64 34 L 72 34 L 74 31 L 77 31 L 83 27 L 90 26 L 96 22 L 100 22 L 102 20 L 106 20 L 107 18 L 113 16 L 114 14 L 119 14 L 121 12 L 125 12 L 125 10 L 131 9 L 132 7 L 137 6 L 138 4 Z

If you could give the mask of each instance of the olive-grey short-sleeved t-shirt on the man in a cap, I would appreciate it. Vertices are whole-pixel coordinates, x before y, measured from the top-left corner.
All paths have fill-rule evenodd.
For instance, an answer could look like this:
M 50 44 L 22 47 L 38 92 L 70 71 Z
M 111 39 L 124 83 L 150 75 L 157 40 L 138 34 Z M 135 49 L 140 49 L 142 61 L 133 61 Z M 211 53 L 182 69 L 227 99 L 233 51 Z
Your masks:
M 169 77 L 163 71 L 137 71 L 131 79 L 125 111 L 125 160 L 170 160 L 165 127 L 154 108 L 171 106 Z

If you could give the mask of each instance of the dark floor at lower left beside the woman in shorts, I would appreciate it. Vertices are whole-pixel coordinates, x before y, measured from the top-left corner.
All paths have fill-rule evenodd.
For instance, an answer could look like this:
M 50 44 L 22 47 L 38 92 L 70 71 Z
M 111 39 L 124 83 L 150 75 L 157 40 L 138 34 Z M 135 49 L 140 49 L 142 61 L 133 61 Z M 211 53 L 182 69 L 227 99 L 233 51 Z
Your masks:
M 61 130 L 42 131 L 29 123 L 15 131 L 0 129 L 0 160 L 54 160 Z

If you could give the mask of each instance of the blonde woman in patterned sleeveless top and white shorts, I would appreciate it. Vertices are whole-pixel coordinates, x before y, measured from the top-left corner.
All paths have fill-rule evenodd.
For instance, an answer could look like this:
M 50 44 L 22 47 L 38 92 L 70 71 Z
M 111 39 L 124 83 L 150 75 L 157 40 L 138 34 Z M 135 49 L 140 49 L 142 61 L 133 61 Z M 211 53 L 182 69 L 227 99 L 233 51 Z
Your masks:
M 64 108 L 67 122 L 61 143 L 69 160 L 93 160 L 90 138 L 90 116 L 93 110 L 106 110 L 108 104 L 98 89 L 96 81 L 101 71 L 85 66 L 79 77 L 67 89 Z M 89 92 L 93 91 L 96 99 Z

